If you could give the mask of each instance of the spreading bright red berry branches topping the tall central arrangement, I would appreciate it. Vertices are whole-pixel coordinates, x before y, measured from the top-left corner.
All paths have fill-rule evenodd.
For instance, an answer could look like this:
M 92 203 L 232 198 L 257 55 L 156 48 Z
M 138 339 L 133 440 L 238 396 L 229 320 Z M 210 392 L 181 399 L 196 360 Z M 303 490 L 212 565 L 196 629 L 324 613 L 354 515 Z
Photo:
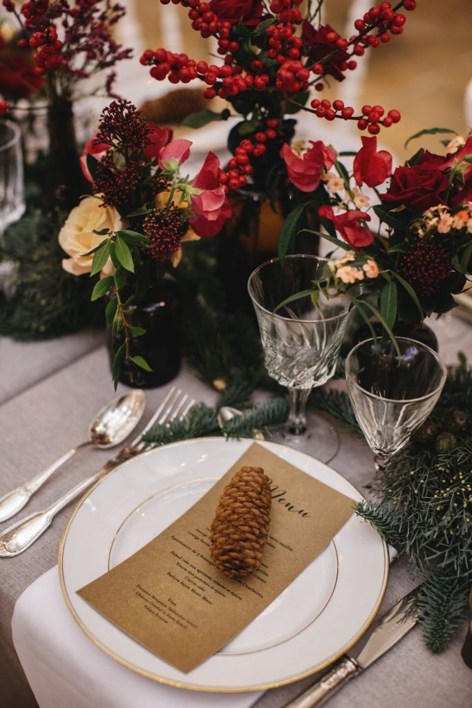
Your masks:
M 161 4 L 169 1 L 161 0 Z M 355 21 L 357 34 L 350 38 L 343 38 L 330 25 L 313 27 L 299 9 L 302 0 L 272 0 L 269 15 L 263 14 L 260 2 L 255 2 L 252 10 L 246 8 L 246 15 L 241 8 L 235 8 L 231 19 L 227 3 L 221 4 L 221 0 L 172 1 L 188 8 L 192 28 L 202 37 L 217 39 L 217 51 L 224 57 L 224 64 L 196 62 L 185 53 L 162 48 L 146 50 L 140 61 L 151 67 L 154 79 L 168 79 L 172 84 L 200 79 L 207 84 L 204 95 L 209 99 L 219 96 L 231 101 L 245 91 L 278 92 L 279 105 L 288 101 L 326 120 L 356 120 L 359 130 L 368 130 L 372 135 L 379 132 L 381 125 L 389 127 L 400 120 L 397 110 L 385 115 L 381 105 L 364 105 L 358 115 L 339 100 L 331 104 L 314 99 L 311 108 L 307 108 L 297 94 L 310 86 L 322 91 L 326 76 L 342 81 L 346 71 L 357 67 L 353 57 L 388 42 L 391 35 L 403 33 L 406 16 L 399 10 L 414 10 L 415 0 L 401 0 L 395 6 L 390 2 L 372 6 Z

